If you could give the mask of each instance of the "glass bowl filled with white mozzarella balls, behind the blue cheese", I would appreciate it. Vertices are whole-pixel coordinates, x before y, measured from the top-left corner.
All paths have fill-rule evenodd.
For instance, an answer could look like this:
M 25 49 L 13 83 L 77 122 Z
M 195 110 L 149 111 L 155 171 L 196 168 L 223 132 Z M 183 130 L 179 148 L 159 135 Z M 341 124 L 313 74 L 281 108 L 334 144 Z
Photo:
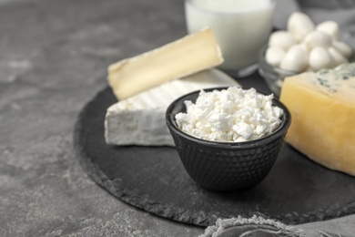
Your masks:
M 285 77 L 338 67 L 352 58 L 353 49 L 340 40 L 336 22 L 316 26 L 308 15 L 295 12 L 289 16 L 287 30 L 269 36 L 268 46 L 260 52 L 259 74 L 279 96 Z

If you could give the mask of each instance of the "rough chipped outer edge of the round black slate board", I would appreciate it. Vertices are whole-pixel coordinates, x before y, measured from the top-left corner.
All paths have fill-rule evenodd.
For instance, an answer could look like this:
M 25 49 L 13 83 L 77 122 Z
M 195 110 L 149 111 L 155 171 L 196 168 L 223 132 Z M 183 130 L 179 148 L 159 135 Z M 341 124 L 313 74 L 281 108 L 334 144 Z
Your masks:
M 89 100 L 84 108 L 80 111 L 75 128 L 74 128 L 74 149 L 76 151 L 76 158 L 79 160 L 80 165 L 86 174 L 94 180 L 101 188 L 108 191 L 111 195 L 115 196 L 120 201 L 124 201 L 127 204 L 136 207 L 137 209 L 147 211 L 157 216 L 167 218 L 176 222 L 183 222 L 187 224 L 193 224 L 200 227 L 207 227 L 214 225 L 216 221 L 220 219 L 232 218 L 232 216 L 223 216 L 218 211 L 188 211 L 182 208 L 175 207 L 173 205 L 164 204 L 158 201 L 150 200 L 148 197 L 143 197 L 137 190 L 127 190 L 124 187 L 117 185 L 115 180 L 110 180 L 103 170 L 99 170 L 93 162 L 91 162 L 89 154 L 83 149 L 83 142 L 81 131 L 83 129 L 82 120 L 88 115 L 88 108 L 96 98 L 99 98 L 100 94 L 105 93 L 107 87 L 100 90 L 96 96 Z M 340 207 L 338 204 L 334 204 L 325 210 L 310 211 L 306 214 L 299 214 L 298 212 L 291 212 L 288 214 L 280 214 L 277 216 L 269 216 L 268 213 L 250 212 L 249 216 L 253 215 L 261 216 L 266 219 L 273 219 L 285 224 L 301 224 L 307 222 L 321 222 L 334 218 L 350 215 L 355 213 L 355 201 L 351 201 L 347 205 Z

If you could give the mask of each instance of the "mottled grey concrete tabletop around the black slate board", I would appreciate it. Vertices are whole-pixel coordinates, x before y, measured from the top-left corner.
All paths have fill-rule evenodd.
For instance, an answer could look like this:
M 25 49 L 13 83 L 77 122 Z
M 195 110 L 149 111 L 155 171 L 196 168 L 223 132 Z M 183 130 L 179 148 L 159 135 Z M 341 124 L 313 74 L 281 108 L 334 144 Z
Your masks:
M 186 34 L 181 0 L 0 5 L 0 236 L 198 236 L 137 210 L 76 160 L 76 116 L 106 67 Z

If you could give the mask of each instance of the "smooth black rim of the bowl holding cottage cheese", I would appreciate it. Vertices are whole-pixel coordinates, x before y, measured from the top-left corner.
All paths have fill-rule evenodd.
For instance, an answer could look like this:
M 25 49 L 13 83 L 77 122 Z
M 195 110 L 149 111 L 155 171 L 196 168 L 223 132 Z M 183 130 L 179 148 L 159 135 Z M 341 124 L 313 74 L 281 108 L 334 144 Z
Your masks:
M 183 137 L 185 139 L 191 140 L 195 143 L 198 143 L 200 145 L 205 145 L 209 147 L 216 147 L 216 148 L 223 148 L 223 149 L 235 149 L 236 147 L 238 148 L 243 148 L 243 149 L 251 149 L 255 147 L 259 147 L 263 144 L 269 144 L 270 142 L 279 139 L 279 137 L 286 135 L 287 130 L 289 129 L 289 125 L 291 122 L 291 114 L 289 112 L 289 108 L 287 108 L 281 101 L 279 101 L 278 98 L 273 98 L 272 99 L 272 105 L 277 106 L 281 108 L 284 113 L 282 115 L 282 122 L 279 126 L 278 129 L 276 129 L 274 132 L 269 134 L 268 136 L 262 137 L 260 139 L 253 139 L 249 141 L 239 141 L 239 142 L 223 142 L 223 141 L 211 141 L 211 140 L 206 140 L 206 139 L 198 139 L 194 136 L 189 135 L 188 133 L 182 131 L 181 129 L 178 129 L 177 123 L 175 121 L 175 115 L 172 113 L 173 109 L 177 107 L 177 105 L 184 103 L 186 98 L 189 98 L 192 95 L 199 94 L 201 90 L 204 90 L 206 92 L 213 91 L 213 90 L 223 90 L 227 89 L 230 87 L 217 87 L 217 88 L 204 88 L 204 89 L 199 89 L 192 91 L 188 94 L 185 94 L 177 99 L 175 99 L 173 102 L 170 103 L 170 105 L 167 107 L 166 110 L 166 122 L 167 122 L 167 128 L 170 129 L 170 132 L 173 131 L 178 136 Z M 262 93 L 257 90 L 257 92 L 261 95 L 266 95 L 265 93 Z M 196 101 L 193 101 L 194 103 Z

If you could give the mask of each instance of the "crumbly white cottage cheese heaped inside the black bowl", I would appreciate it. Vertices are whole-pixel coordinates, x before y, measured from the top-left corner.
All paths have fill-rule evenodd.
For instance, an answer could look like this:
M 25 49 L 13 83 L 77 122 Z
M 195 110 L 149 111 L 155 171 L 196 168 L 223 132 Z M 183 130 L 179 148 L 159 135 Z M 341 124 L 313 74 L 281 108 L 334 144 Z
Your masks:
M 177 126 L 198 139 L 240 142 L 259 139 L 279 128 L 281 108 L 272 106 L 273 95 L 256 89 L 231 87 L 201 90 L 196 104 L 185 101 L 187 113 L 176 115 Z

